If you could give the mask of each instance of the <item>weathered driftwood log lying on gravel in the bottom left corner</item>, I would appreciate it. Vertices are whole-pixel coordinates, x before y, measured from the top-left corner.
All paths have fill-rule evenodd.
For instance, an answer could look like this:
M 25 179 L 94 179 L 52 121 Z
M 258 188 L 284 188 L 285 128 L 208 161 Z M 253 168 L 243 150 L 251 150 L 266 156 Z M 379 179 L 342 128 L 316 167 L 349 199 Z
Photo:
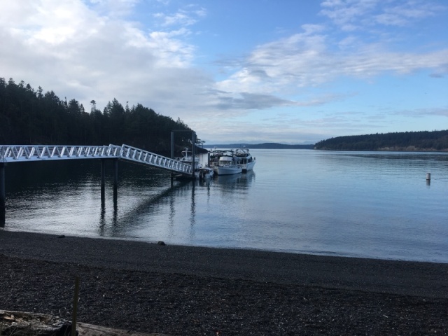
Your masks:
M 76 330 L 78 336 L 167 336 L 130 332 L 82 322 L 76 324 Z M 71 322 L 59 316 L 0 310 L 1 336 L 69 336 L 70 334 Z

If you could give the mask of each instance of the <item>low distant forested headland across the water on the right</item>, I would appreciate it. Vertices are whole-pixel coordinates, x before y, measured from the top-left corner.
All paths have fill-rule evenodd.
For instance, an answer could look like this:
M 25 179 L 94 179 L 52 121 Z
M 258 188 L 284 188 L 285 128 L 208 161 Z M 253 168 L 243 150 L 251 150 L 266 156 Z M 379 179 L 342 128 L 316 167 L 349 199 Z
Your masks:
M 448 151 L 448 130 L 336 137 L 316 143 L 332 151 Z

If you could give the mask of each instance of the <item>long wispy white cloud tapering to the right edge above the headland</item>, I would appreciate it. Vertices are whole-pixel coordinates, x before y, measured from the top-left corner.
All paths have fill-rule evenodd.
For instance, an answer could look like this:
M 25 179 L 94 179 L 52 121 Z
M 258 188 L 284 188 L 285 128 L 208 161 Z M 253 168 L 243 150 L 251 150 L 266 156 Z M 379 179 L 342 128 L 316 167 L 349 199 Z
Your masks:
M 426 53 L 391 52 L 371 43 L 354 45 L 356 52 L 345 52 L 345 45 L 353 43 L 353 38 L 344 38 L 342 49 L 331 48 L 328 40 L 326 35 L 307 31 L 259 45 L 240 61 L 239 70 L 218 82 L 217 87 L 225 92 L 288 94 L 290 90 L 317 87 L 341 76 L 372 78 L 381 73 L 445 69 L 448 63 L 448 48 Z

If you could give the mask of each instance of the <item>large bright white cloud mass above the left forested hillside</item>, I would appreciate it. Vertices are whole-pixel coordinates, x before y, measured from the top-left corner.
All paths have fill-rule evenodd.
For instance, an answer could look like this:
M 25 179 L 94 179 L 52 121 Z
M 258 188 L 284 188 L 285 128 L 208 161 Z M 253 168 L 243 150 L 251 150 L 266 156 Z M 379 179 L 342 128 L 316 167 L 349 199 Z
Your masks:
M 97 11 L 106 5 L 109 10 Z M 148 33 L 138 23 L 104 14 L 125 13 L 133 5 L 134 1 L 2 3 L 0 73 L 55 90 L 59 97 L 75 97 L 85 104 L 95 99 L 98 106 L 113 97 L 135 99 L 134 104 L 142 97 L 158 100 L 173 90 L 182 97 L 208 83 L 202 71 L 188 69 L 195 48 L 185 42 L 187 29 Z M 181 83 L 186 87 L 178 86 Z

